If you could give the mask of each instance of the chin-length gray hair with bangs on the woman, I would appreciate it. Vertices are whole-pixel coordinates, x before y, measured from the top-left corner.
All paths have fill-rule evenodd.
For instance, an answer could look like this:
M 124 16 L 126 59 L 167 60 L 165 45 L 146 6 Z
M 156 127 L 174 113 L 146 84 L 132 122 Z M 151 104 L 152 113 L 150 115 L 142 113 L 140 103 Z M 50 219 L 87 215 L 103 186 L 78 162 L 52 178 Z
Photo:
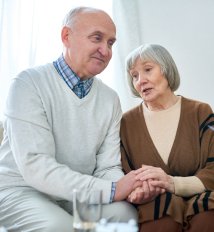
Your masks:
M 162 74 L 168 81 L 170 89 L 174 92 L 180 85 L 180 75 L 170 53 L 158 44 L 144 44 L 136 48 L 126 57 L 126 77 L 132 94 L 135 97 L 141 97 L 133 85 L 130 70 L 140 58 L 142 62 L 155 62 L 160 65 Z

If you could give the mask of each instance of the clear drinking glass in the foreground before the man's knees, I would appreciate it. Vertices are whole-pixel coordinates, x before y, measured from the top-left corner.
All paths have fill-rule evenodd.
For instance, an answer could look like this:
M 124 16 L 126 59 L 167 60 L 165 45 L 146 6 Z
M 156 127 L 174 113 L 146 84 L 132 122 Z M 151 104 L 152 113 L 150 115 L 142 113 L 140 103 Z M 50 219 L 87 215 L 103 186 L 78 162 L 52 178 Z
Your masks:
M 73 227 L 75 232 L 94 232 L 102 214 L 102 190 L 73 190 Z

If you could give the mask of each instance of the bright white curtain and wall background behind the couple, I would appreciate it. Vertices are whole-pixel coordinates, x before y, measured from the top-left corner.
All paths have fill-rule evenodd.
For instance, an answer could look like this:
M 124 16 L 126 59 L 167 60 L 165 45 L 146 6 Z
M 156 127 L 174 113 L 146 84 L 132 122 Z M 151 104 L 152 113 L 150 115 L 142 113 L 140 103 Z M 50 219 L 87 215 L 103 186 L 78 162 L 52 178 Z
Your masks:
M 142 43 L 161 44 L 172 54 L 181 74 L 177 94 L 214 108 L 213 0 L 0 0 L 0 119 L 10 80 L 58 58 L 62 19 L 79 5 L 104 9 L 116 23 L 113 58 L 99 77 L 118 92 L 123 111 L 139 103 L 126 86 L 124 60 Z

